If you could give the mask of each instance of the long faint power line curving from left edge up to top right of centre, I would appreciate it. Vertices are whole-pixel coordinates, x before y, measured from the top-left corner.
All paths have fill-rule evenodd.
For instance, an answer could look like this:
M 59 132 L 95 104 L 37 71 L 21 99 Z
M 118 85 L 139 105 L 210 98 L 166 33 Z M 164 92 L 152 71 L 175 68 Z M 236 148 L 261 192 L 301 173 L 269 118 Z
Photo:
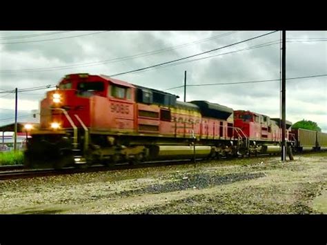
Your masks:
M 71 69 L 71 68 L 81 68 L 81 67 L 88 67 L 88 66 L 99 66 L 102 65 L 104 63 L 115 63 L 118 61 L 126 61 L 128 59 L 134 59 L 134 58 L 139 58 L 139 57 L 146 57 L 149 55 L 155 55 L 161 52 L 167 52 L 167 51 L 171 51 L 171 50 L 175 50 L 178 48 L 186 48 L 188 46 L 191 46 L 193 44 L 197 44 L 197 43 L 201 43 L 204 41 L 210 41 L 212 39 L 217 39 L 219 37 L 226 37 L 228 35 L 232 35 L 237 31 L 232 31 L 232 32 L 225 32 L 221 35 L 215 35 L 213 37 L 208 37 L 206 39 L 199 39 L 197 41 L 192 41 L 191 43 L 184 43 L 184 44 L 180 44 L 178 46 L 172 46 L 170 48 L 162 48 L 159 50 L 153 50 L 153 51 L 149 51 L 149 52 L 143 52 L 137 55 L 130 55 L 130 56 L 126 56 L 126 57 L 118 57 L 118 58 L 114 58 L 114 59 L 106 59 L 103 61 L 95 61 L 95 62 L 88 62 L 88 63 L 77 63 L 75 65 L 69 65 L 69 66 L 54 66 L 54 67 L 48 67 L 48 68 L 29 68 L 29 69 L 17 69 L 17 70 L 0 70 L 0 72 L 35 72 L 35 71 L 53 71 L 53 70 L 65 70 L 65 69 Z

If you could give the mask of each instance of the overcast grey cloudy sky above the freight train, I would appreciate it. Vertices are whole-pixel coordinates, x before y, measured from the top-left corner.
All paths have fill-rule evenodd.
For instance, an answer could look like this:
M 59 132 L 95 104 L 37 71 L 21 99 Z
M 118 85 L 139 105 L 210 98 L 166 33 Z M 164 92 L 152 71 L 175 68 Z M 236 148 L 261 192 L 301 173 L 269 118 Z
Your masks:
M 270 31 L 0 31 L 0 125 L 14 121 L 14 93 L 55 85 L 64 75 L 115 75 L 228 46 Z M 159 90 L 184 85 L 187 101 L 207 100 L 234 110 L 279 117 L 280 32 L 117 79 Z M 287 32 L 286 77 L 327 74 L 327 32 Z M 262 46 L 259 46 L 262 45 Z M 252 48 L 254 47 L 254 48 Z M 248 49 L 250 48 L 250 49 Z M 235 52 L 236 51 L 236 52 Z M 205 58 L 206 59 L 201 59 Z M 221 84 L 201 86 L 201 84 Z M 286 117 L 316 121 L 327 132 L 327 77 L 286 81 Z M 46 90 L 19 92 L 19 121 L 31 119 Z M 167 90 L 184 98 L 184 89 Z

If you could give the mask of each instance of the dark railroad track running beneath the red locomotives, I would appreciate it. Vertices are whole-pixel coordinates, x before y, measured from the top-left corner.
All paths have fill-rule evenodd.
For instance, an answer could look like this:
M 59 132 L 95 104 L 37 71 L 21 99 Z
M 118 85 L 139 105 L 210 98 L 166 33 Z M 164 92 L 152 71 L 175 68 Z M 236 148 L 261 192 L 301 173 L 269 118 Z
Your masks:
M 232 161 L 236 159 L 246 159 L 246 158 L 266 158 L 266 157 L 277 157 L 277 155 L 258 155 L 255 156 L 246 156 L 237 157 L 237 158 L 226 158 L 222 157 L 221 161 Z M 306 153 L 297 153 L 296 155 L 306 155 Z M 197 163 L 201 163 L 203 161 L 210 161 L 208 159 L 197 159 Z M 92 173 L 92 172 L 100 172 L 100 171 L 109 171 L 109 170 L 126 170 L 132 168 L 150 168 L 156 166 L 172 166 L 176 164 L 193 164 L 193 161 L 189 159 L 182 160 L 167 160 L 167 161 L 146 161 L 142 164 L 130 165 L 130 164 L 117 164 L 115 166 L 103 166 L 103 165 L 93 165 L 89 168 L 75 168 L 68 167 L 60 170 L 55 170 L 53 168 L 42 168 L 42 169 L 24 169 L 23 165 L 14 165 L 14 166 L 0 166 L 0 180 L 5 179 L 23 179 L 23 178 L 31 178 L 31 177 L 46 177 L 46 176 L 54 176 L 54 175 L 71 175 L 75 173 Z

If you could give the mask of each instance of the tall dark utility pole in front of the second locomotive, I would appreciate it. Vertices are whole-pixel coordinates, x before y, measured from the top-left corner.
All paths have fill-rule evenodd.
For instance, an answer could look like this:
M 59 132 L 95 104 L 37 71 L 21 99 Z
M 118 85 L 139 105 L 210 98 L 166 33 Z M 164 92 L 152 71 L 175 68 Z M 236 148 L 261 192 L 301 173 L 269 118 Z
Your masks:
M 286 30 L 281 38 L 281 161 L 286 161 Z

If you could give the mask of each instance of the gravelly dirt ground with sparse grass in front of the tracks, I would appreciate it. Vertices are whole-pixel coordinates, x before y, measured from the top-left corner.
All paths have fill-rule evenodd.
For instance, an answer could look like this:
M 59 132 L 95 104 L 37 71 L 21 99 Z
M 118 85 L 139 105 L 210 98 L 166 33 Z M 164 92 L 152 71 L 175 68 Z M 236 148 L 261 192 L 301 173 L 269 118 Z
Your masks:
M 1 214 L 327 213 L 327 153 L 0 181 Z

